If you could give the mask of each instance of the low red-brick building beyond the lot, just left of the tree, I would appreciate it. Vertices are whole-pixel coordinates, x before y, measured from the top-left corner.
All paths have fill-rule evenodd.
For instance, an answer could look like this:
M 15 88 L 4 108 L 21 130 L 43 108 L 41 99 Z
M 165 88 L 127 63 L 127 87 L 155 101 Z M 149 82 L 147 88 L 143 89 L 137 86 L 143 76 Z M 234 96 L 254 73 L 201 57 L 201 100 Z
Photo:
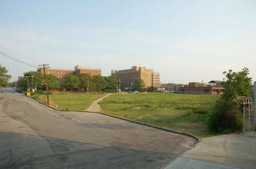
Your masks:
M 222 95 L 225 88 L 220 86 L 219 80 L 212 80 L 209 85 L 200 85 L 200 83 L 189 83 L 188 87 L 179 87 L 180 94 L 197 94 L 197 95 Z

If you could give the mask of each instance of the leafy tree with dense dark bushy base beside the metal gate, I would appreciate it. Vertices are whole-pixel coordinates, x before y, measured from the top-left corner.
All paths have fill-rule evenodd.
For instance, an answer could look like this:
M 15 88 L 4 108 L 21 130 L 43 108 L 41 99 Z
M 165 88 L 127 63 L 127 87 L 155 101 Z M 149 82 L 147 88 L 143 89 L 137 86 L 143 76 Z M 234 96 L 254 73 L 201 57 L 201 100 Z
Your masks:
M 240 102 L 236 96 L 251 96 L 252 82 L 248 77 L 249 70 L 245 67 L 238 73 L 229 70 L 224 71 L 226 81 L 221 85 L 225 92 L 220 100 L 217 100 L 215 109 L 209 114 L 208 128 L 213 132 L 231 133 L 242 131 L 242 113 Z

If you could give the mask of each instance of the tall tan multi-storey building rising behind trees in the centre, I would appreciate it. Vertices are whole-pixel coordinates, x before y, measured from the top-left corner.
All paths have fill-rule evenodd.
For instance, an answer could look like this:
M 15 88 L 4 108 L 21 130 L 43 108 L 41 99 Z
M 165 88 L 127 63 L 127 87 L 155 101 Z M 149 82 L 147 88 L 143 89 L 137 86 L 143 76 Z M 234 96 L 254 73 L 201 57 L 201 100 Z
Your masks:
M 112 70 L 112 76 L 120 81 L 121 90 L 132 89 L 135 80 L 142 79 L 146 87 L 160 86 L 160 73 L 156 73 L 153 69 L 146 69 L 143 66 L 133 66 L 132 69 Z

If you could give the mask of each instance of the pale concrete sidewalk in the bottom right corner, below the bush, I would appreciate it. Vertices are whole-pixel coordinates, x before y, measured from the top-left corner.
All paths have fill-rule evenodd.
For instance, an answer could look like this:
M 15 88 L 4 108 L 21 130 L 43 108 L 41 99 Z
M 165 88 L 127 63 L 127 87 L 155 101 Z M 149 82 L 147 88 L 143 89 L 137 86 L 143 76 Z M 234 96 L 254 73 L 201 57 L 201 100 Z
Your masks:
M 256 138 L 242 134 L 203 138 L 191 150 L 165 167 L 171 168 L 256 169 Z

